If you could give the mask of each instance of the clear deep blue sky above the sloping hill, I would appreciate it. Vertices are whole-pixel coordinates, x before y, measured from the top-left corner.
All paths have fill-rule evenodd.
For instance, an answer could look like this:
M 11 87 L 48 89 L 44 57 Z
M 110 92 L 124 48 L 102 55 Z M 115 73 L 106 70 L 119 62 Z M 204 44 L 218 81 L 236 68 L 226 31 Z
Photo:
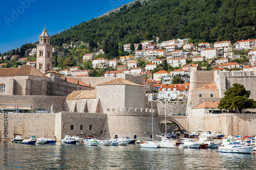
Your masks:
M 0 10 L 0 52 L 33 43 L 46 25 L 50 35 L 82 21 L 96 18 L 133 0 L 12 0 L 2 1 Z

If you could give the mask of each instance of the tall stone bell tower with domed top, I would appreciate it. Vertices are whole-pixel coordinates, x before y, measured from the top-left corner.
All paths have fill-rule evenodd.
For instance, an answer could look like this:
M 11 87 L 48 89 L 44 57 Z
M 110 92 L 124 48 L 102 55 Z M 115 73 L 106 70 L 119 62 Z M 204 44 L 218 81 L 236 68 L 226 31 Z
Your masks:
M 39 44 L 36 50 L 36 68 L 42 73 L 52 69 L 52 45 L 50 45 L 50 35 L 42 30 L 39 36 Z

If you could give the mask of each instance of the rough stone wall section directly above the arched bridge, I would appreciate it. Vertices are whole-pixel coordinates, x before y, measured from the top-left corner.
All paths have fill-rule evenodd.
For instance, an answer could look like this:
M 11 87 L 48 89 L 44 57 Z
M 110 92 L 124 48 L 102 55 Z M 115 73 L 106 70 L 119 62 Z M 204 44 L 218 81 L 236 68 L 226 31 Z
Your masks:
M 166 115 L 183 115 L 186 114 L 187 102 L 167 101 L 166 102 Z M 157 102 L 158 115 L 165 115 L 164 101 Z

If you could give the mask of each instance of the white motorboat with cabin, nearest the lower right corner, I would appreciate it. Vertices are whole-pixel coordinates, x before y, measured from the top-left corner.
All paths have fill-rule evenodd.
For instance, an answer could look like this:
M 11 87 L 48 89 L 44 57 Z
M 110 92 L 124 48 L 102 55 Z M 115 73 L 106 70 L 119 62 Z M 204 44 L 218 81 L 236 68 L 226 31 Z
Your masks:
M 234 139 L 223 139 L 223 145 L 219 147 L 220 152 L 250 154 L 253 146 L 242 145 Z

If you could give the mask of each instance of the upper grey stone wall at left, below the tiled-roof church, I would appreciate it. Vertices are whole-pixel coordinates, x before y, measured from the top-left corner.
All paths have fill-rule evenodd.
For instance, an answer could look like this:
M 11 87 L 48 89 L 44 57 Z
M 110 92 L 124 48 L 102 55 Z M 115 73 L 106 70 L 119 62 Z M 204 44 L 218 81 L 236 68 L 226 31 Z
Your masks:
M 48 110 L 53 105 L 53 111 L 59 112 L 64 109 L 64 99 L 66 96 L 49 96 L 49 95 L 1 95 L 0 104 L 32 104 L 33 110 L 44 109 Z M 0 105 L 1 108 L 10 107 Z M 37 107 L 37 108 L 35 108 Z

